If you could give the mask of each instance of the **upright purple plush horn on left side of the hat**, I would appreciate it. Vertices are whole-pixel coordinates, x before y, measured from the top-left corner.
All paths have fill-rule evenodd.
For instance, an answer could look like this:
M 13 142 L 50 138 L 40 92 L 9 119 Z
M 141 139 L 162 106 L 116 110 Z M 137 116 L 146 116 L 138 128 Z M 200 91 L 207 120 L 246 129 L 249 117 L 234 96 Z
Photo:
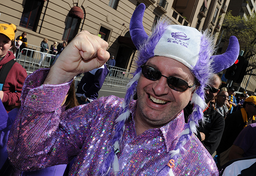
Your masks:
M 130 36 L 137 49 L 139 48 L 140 43 L 148 38 L 148 34 L 145 32 L 142 24 L 145 8 L 145 4 L 140 3 L 134 10 L 132 18 L 130 19 Z

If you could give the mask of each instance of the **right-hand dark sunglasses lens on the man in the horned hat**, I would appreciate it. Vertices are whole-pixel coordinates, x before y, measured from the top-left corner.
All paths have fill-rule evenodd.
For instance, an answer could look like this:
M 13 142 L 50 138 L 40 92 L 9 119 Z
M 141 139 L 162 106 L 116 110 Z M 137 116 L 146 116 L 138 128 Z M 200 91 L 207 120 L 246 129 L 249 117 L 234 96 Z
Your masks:
M 188 83 L 182 79 L 176 77 L 167 78 L 168 86 L 173 90 L 182 92 L 188 89 Z

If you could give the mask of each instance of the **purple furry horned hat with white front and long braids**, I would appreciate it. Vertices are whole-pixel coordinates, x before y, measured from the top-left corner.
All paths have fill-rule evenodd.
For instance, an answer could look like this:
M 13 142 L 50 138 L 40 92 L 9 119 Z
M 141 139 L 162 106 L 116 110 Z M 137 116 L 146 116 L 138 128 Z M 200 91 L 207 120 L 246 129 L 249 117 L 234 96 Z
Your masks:
M 115 153 L 122 143 L 125 121 L 130 115 L 128 106 L 136 93 L 137 82 L 141 76 L 141 65 L 154 56 L 169 57 L 186 65 L 200 84 L 192 96 L 191 103 L 194 104 L 194 110 L 189 117 L 189 122 L 181 132 L 175 149 L 170 151 L 170 159 L 175 160 L 180 152 L 184 152 L 183 146 L 192 133 L 196 133 L 198 121 L 204 121 L 202 112 L 206 106 L 204 88 L 209 78 L 213 73 L 218 73 L 233 65 L 239 54 L 238 40 L 235 36 L 231 36 L 227 51 L 222 55 L 212 55 L 214 52 L 212 37 L 207 32 L 200 32 L 188 26 L 168 25 L 166 22 L 159 22 L 152 35 L 148 36 L 142 24 L 144 11 L 145 5 L 141 3 L 135 9 L 130 20 L 130 36 L 138 49 L 137 69 L 134 72 L 134 77 L 127 84 L 122 111 L 116 119 L 115 132 L 111 139 L 113 148 L 101 167 L 101 176 L 108 175 L 111 167 L 114 173 L 119 171 Z M 171 175 L 171 172 L 172 169 L 166 165 L 158 175 L 166 176 L 168 173 Z

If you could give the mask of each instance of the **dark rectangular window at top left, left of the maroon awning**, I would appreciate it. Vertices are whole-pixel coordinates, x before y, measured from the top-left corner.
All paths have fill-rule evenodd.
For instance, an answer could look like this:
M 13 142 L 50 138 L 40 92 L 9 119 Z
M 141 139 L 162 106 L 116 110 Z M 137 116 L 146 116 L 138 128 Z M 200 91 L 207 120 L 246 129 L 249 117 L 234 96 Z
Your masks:
M 20 19 L 20 26 L 36 31 L 44 1 L 26 0 Z

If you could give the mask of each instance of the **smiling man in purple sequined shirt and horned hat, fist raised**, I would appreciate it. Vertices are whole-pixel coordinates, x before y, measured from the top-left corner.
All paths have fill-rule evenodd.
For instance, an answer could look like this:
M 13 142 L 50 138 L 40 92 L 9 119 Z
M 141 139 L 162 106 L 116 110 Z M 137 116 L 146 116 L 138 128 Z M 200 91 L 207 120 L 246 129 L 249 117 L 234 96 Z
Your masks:
M 68 44 L 51 69 L 29 75 L 8 140 L 16 167 L 33 170 L 76 156 L 70 175 L 218 175 L 194 133 L 203 120 L 204 88 L 213 73 L 235 62 L 238 40 L 230 37 L 227 52 L 212 56 L 212 39 L 195 28 L 160 22 L 148 36 L 144 10 L 141 3 L 130 21 L 139 55 L 124 99 L 103 97 L 60 113 L 72 78 L 109 58 L 108 43 L 87 31 Z M 185 124 L 189 100 L 195 108 Z

